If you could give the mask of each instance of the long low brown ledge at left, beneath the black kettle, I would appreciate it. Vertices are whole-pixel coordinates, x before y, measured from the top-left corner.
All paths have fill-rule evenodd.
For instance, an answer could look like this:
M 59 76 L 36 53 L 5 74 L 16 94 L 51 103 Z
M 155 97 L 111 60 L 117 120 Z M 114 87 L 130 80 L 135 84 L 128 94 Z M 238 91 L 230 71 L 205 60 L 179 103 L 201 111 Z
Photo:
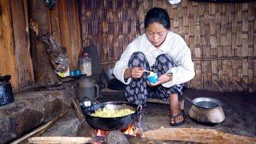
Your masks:
M 55 90 L 14 94 L 14 102 L 0 107 L 0 143 L 11 142 L 50 121 L 72 106 L 77 86 L 71 83 Z

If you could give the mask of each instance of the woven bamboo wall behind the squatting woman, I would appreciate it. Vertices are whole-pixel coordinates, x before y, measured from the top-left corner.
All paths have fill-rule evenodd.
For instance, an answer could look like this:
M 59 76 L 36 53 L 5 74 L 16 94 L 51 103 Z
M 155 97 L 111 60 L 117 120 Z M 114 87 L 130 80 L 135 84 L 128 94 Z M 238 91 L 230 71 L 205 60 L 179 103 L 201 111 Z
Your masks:
M 82 1 L 83 46 L 97 45 L 104 70 L 114 66 L 139 32 L 144 16 L 154 6 L 170 14 L 171 30 L 190 46 L 196 89 L 256 91 L 256 2 L 210 3 L 182 0 Z

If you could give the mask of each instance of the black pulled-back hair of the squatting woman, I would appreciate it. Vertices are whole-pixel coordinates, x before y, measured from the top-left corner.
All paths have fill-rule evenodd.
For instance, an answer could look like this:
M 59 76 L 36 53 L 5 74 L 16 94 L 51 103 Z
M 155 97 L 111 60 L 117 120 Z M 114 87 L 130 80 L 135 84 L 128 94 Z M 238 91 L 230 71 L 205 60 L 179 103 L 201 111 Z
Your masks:
M 166 10 L 154 7 L 146 13 L 144 21 L 144 28 L 146 29 L 151 23 L 158 22 L 162 24 L 167 30 L 170 29 L 170 18 Z

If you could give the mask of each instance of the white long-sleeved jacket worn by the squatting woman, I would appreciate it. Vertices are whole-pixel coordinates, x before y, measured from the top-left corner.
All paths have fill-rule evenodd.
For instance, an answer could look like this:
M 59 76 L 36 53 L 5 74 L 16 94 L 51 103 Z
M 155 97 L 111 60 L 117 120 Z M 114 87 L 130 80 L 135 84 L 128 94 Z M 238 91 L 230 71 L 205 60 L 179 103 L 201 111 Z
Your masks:
M 135 38 L 133 42 L 126 47 L 121 58 L 114 66 L 114 76 L 121 82 L 129 84 L 131 78 L 125 82 L 124 72 L 128 68 L 128 62 L 131 54 L 141 51 L 145 54 L 150 66 L 152 66 L 159 54 L 169 54 L 173 58 L 177 67 L 173 67 L 166 72 L 172 73 L 173 78 L 170 82 L 163 83 L 162 86 L 170 87 L 174 84 L 181 84 L 194 78 L 194 62 L 191 59 L 190 48 L 186 46 L 186 42 L 178 34 L 168 32 L 165 41 L 159 48 L 155 48 L 146 38 L 146 34 L 142 34 Z

